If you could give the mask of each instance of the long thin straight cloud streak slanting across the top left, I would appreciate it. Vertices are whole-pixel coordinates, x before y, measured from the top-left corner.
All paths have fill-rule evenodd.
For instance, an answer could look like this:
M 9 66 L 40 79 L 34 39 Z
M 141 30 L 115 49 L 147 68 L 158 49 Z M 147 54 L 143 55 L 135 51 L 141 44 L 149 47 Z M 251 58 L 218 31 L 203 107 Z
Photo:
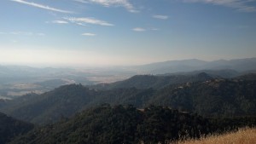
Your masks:
M 39 8 L 39 9 L 47 9 L 47 10 L 60 12 L 60 13 L 73 14 L 72 11 L 67 11 L 67 10 L 62 10 L 62 9 L 55 9 L 55 8 L 49 7 L 48 5 L 43 5 L 43 4 L 39 4 L 39 3 L 26 2 L 24 0 L 10 0 L 10 1 L 30 5 L 32 7 L 36 7 L 36 8 Z

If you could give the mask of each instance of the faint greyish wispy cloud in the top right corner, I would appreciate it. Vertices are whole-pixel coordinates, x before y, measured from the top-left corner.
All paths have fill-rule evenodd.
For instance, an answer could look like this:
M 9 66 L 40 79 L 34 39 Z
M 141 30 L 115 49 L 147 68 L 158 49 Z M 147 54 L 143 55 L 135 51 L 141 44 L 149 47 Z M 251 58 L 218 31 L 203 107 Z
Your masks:
M 243 12 L 256 12 L 256 7 L 250 5 L 255 0 L 183 0 L 186 3 L 212 3 L 223 5 Z

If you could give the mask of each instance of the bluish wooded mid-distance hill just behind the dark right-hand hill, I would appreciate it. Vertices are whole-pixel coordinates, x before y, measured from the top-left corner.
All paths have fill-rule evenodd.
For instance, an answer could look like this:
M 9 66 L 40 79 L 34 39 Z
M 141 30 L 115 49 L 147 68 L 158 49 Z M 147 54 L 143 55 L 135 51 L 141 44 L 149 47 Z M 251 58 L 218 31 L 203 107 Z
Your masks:
M 136 75 L 123 81 L 112 84 L 96 84 L 93 89 L 160 89 L 171 84 L 184 84 L 191 82 L 206 81 L 217 76 L 210 76 L 206 72 L 195 72 L 193 74 L 172 74 L 172 75 Z

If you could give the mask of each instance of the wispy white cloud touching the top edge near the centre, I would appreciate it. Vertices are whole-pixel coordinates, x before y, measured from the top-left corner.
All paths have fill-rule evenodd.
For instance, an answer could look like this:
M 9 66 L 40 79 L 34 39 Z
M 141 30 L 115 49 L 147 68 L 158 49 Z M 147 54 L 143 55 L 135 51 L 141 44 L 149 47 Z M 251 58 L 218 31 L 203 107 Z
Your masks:
M 138 10 L 128 0 L 73 0 L 80 3 L 98 3 L 105 7 L 124 7 L 131 13 L 137 13 Z

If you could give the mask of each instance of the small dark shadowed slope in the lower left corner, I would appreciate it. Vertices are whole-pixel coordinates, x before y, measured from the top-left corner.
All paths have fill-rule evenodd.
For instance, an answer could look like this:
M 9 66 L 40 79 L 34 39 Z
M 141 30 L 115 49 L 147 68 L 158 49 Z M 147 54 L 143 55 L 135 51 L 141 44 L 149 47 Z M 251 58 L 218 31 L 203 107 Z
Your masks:
M 17 135 L 32 130 L 33 124 L 29 124 L 15 118 L 11 118 L 0 112 L 0 143 L 4 144 Z

